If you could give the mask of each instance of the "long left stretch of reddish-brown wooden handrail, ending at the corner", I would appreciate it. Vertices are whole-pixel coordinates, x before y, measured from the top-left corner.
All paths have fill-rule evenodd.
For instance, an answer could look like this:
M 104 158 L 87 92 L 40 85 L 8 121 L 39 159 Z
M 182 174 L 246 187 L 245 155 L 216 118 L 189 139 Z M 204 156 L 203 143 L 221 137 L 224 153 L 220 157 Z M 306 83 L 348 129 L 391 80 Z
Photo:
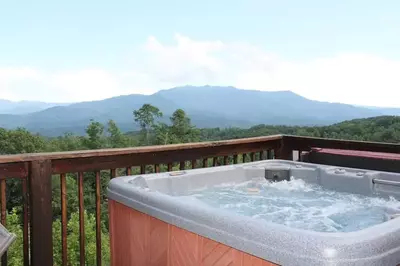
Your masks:
M 27 162 L 37 160 L 51 160 L 52 174 L 190 161 L 243 152 L 258 152 L 262 149 L 276 149 L 280 145 L 281 139 L 282 137 L 277 135 L 124 149 L 2 155 L 0 156 L 0 175 L 24 177 L 28 173 Z M 6 166 L 5 164 L 7 167 L 1 167 Z

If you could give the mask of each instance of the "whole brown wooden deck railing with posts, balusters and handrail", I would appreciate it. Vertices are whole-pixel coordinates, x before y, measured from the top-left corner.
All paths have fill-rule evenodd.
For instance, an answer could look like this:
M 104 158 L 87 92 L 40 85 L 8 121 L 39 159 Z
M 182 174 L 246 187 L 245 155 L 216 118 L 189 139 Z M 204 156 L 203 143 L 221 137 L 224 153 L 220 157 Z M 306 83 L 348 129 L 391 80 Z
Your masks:
M 106 170 L 109 177 L 114 178 L 118 173 L 130 175 L 136 168 L 138 173 L 145 174 L 149 171 L 172 171 L 273 158 L 292 160 L 293 151 L 308 151 L 312 147 L 400 152 L 398 144 L 276 135 L 179 145 L 0 156 L 1 223 L 7 227 L 6 179 L 20 179 L 24 265 L 53 265 L 52 177 L 58 175 L 62 265 L 76 264 L 75 261 L 68 261 L 67 254 L 66 175 L 77 174 L 80 265 L 85 265 L 83 181 L 84 173 L 92 172 L 96 198 L 96 262 L 101 265 L 101 195 L 104 192 L 101 191 L 101 172 Z M 123 172 L 121 169 L 124 169 Z M 7 265 L 7 254 L 2 257 L 2 265 Z

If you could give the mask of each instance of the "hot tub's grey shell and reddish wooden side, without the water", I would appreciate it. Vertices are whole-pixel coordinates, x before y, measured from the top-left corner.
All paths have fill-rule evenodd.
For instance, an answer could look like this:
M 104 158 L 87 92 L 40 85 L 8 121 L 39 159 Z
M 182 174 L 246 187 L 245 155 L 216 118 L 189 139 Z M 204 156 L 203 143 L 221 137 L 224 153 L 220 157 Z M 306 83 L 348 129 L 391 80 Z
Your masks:
M 400 197 L 400 174 L 281 160 L 115 178 L 108 187 L 112 265 L 399 264 L 400 218 L 359 231 L 325 233 L 252 219 L 182 197 L 226 182 L 283 180 L 287 171 L 327 189 Z

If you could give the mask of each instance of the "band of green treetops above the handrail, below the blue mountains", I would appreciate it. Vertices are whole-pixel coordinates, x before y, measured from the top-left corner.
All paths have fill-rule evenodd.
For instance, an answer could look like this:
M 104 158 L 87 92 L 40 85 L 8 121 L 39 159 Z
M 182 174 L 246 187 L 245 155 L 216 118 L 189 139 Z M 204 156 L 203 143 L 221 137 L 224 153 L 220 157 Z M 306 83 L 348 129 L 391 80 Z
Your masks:
M 257 125 L 247 129 L 234 127 L 197 128 L 192 125 L 191 119 L 182 109 L 176 110 L 169 117 L 169 123 L 157 122 L 157 118 L 160 117 L 163 117 L 163 114 L 157 107 L 145 104 L 132 114 L 132 123 L 141 128 L 137 132 L 122 133 L 113 120 L 109 120 L 106 124 L 94 120 L 88 121 L 85 136 L 66 132 L 62 136 L 49 138 L 33 134 L 24 128 L 16 130 L 0 128 L 0 153 L 117 148 L 236 139 L 273 134 L 400 142 L 400 116 L 355 119 L 320 127 Z

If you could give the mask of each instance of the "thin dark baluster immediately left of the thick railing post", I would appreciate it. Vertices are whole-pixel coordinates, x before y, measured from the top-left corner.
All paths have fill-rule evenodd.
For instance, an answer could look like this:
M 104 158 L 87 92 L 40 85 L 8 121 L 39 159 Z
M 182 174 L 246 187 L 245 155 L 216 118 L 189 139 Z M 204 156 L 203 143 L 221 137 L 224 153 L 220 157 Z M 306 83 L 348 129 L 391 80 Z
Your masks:
M 22 212 L 23 212 L 23 232 L 22 232 L 22 241 L 23 241 L 23 253 L 24 253 L 24 266 L 29 266 L 29 214 L 28 214 L 28 206 L 29 206 L 29 194 L 28 194 L 28 182 L 25 177 L 22 179 Z

